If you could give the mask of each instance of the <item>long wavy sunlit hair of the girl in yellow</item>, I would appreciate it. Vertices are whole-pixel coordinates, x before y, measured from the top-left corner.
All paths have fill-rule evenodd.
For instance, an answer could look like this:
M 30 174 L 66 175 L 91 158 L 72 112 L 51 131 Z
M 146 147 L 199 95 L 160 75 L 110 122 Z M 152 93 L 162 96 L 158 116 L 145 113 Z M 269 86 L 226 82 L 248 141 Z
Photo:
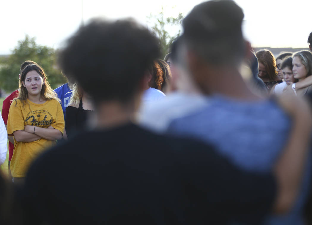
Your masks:
M 36 71 L 42 77 L 42 79 L 45 80 L 44 84 L 42 84 L 42 88 L 40 91 L 41 97 L 45 100 L 56 99 L 56 100 L 60 101 L 60 99 L 57 98 L 57 94 L 51 88 L 44 70 L 42 69 L 41 66 L 36 65 L 36 64 L 27 65 L 23 69 L 22 74 L 21 74 L 21 79 L 19 81 L 20 92 L 18 94 L 18 97 L 15 99 L 19 99 L 19 100 L 23 101 L 25 104 L 26 99 L 28 98 L 28 91 L 27 91 L 26 87 L 24 87 L 22 82 L 25 82 L 26 74 L 30 71 L 33 71 L 33 70 Z

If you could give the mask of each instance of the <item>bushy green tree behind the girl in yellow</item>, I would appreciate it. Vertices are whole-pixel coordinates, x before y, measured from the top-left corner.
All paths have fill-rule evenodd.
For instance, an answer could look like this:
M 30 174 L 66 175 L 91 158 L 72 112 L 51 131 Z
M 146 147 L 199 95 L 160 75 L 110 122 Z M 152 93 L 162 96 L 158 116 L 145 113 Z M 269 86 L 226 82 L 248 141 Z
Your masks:
M 45 45 L 37 45 L 34 37 L 26 35 L 24 40 L 18 41 L 9 57 L 0 59 L 1 89 L 9 92 L 17 89 L 19 70 L 26 60 L 38 63 L 45 70 L 53 89 L 66 83 L 66 79 L 56 66 L 56 51 Z

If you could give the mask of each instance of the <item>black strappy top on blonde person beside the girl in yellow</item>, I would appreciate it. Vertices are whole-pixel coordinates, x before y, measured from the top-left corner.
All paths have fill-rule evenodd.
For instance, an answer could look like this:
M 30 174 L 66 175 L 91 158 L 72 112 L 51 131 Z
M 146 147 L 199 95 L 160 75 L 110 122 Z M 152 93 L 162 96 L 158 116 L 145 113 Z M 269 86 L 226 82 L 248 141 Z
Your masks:
M 88 114 L 92 110 L 82 108 L 82 99 L 80 98 L 79 107 L 67 106 L 65 115 L 65 129 L 68 139 L 76 136 L 85 130 Z

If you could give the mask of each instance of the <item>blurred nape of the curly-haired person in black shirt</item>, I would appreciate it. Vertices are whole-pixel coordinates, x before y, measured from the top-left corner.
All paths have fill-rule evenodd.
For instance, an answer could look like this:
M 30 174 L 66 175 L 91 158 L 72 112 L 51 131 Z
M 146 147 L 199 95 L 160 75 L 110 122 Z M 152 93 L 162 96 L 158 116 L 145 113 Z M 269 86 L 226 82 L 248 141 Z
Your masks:
M 107 129 L 122 126 L 132 121 L 134 107 L 131 104 L 123 104 L 118 101 L 106 101 L 96 107 L 96 129 Z

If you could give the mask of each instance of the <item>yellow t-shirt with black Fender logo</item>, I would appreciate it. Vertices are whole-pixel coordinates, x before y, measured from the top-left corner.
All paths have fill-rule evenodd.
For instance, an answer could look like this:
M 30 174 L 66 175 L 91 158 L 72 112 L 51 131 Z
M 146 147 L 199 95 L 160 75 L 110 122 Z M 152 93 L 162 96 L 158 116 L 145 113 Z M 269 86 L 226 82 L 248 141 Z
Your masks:
M 7 134 L 14 136 L 14 131 L 24 130 L 26 125 L 43 128 L 52 126 L 63 133 L 64 114 L 61 104 L 55 99 L 47 100 L 42 104 L 32 103 L 27 99 L 24 105 L 21 100 L 14 100 L 7 119 Z M 56 141 L 44 138 L 32 142 L 16 141 L 14 138 L 14 151 L 10 164 L 12 177 L 25 177 L 32 161 L 55 143 Z

